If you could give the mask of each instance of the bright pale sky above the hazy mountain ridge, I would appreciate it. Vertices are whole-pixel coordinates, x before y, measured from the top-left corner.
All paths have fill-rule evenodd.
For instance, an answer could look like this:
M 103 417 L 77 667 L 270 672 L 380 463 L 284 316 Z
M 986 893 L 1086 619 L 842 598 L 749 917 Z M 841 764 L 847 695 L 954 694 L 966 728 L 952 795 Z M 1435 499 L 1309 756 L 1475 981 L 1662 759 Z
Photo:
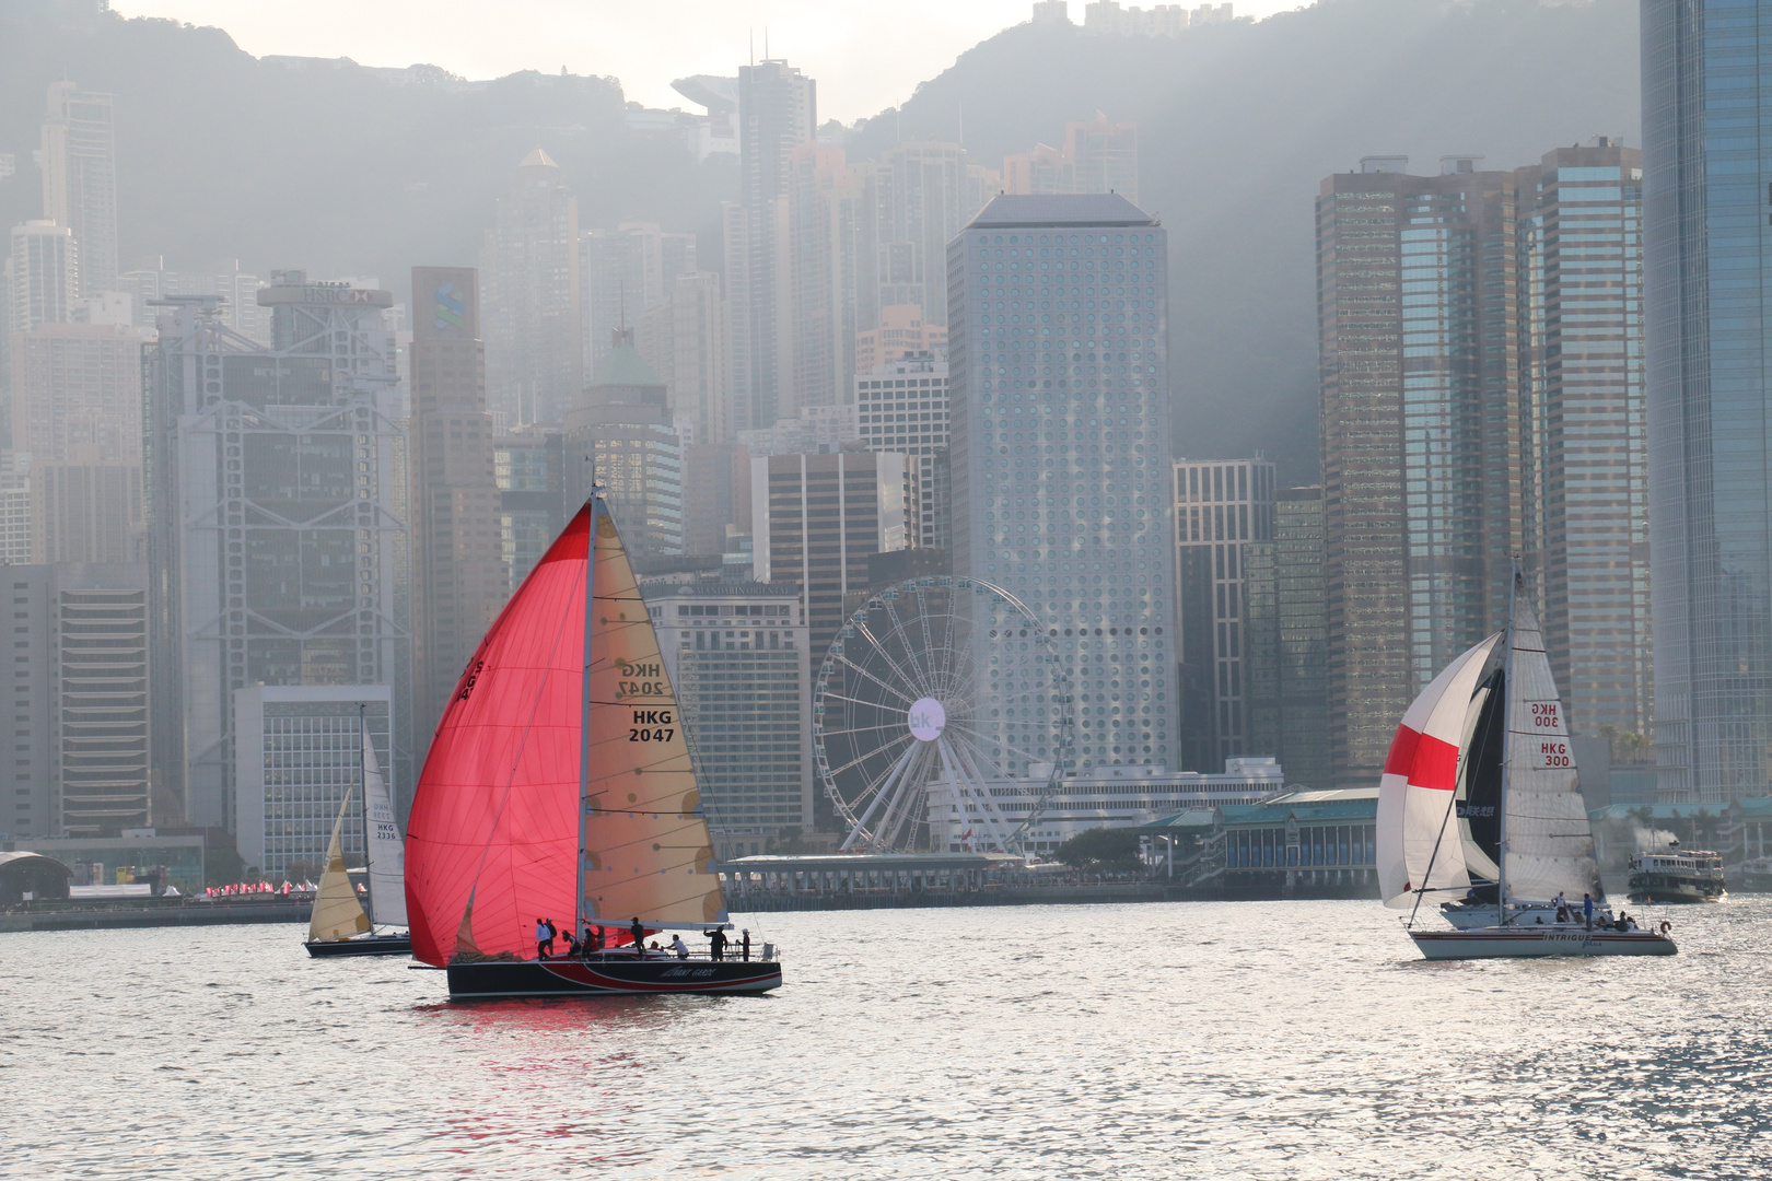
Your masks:
M 1083 21 L 1084 2 L 1070 0 L 1070 19 Z M 1235 11 L 1267 16 L 1299 4 L 1244 0 Z M 613 74 L 647 106 L 689 106 L 672 78 L 734 73 L 753 34 L 762 57 L 767 28 L 769 53 L 819 80 L 819 119 L 852 122 L 1028 19 L 1031 0 L 113 0 L 112 9 L 216 25 L 257 57 L 429 62 L 468 78 L 565 66 Z

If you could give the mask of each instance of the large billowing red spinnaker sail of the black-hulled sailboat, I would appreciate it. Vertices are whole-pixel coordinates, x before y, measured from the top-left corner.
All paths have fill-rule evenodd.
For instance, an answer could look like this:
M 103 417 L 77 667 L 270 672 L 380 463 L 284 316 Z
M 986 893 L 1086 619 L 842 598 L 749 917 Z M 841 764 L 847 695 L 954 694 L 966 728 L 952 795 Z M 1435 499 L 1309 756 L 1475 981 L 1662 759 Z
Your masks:
M 484 954 L 572 928 L 590 510 L 548 549 L 455 683 L 406 827 L 413 954 L 443 965 L 473 898 Z M 555 944 L 563 949 L 562 942 Z

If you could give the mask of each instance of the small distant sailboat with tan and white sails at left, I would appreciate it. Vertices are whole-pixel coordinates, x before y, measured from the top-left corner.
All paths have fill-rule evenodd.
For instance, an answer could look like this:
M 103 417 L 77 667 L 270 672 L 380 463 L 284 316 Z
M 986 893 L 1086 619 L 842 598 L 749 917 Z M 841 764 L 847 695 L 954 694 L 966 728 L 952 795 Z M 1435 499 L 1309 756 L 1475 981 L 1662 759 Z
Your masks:
M 351 871 L 344 864 L 344 816 L 351 809 L 353 788 L 346 788 L 333 836 L 326 845 L 326 873 L 321 875 L 319 894 L 308 917 L 308 938 L 303 944 L 310 956 L 404 956 L 413 951 L 413 937 L 406 931 L 376 931 L 376 926 L 406 926 L 406 848 L 400 825 L 393 818 L 393 800 L 388 799 L 388 781 L 381 776 L 376 745 L 363 726 L 363 706 L 356 712 L 358 779 L 363 784 L 363 832 L 369 861 L 367 896 L 358 898 L 351 885 Z M 365 908 L 363 903 L 369 903 Z

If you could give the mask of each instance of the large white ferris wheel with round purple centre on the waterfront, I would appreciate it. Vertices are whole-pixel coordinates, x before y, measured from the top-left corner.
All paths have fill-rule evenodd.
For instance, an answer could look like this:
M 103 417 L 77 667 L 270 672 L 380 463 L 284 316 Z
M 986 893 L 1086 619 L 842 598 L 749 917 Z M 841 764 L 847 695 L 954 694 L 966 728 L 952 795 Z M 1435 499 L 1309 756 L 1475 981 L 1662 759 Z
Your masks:
M 843 850 L 1019 853 L 1072 758 L 1069 675 L 1049 629 L 1001 586 L 911 579 L 838 630 L 812 742 Z

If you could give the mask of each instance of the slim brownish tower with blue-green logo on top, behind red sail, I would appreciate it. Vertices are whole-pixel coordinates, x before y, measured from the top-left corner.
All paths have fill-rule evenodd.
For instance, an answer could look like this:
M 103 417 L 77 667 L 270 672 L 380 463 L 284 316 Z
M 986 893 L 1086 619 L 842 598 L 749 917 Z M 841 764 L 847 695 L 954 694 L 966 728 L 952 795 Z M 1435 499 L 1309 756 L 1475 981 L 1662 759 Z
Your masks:
M 413 726 L 424 740 L 509 591 L 478 276 L 413 267 Z

